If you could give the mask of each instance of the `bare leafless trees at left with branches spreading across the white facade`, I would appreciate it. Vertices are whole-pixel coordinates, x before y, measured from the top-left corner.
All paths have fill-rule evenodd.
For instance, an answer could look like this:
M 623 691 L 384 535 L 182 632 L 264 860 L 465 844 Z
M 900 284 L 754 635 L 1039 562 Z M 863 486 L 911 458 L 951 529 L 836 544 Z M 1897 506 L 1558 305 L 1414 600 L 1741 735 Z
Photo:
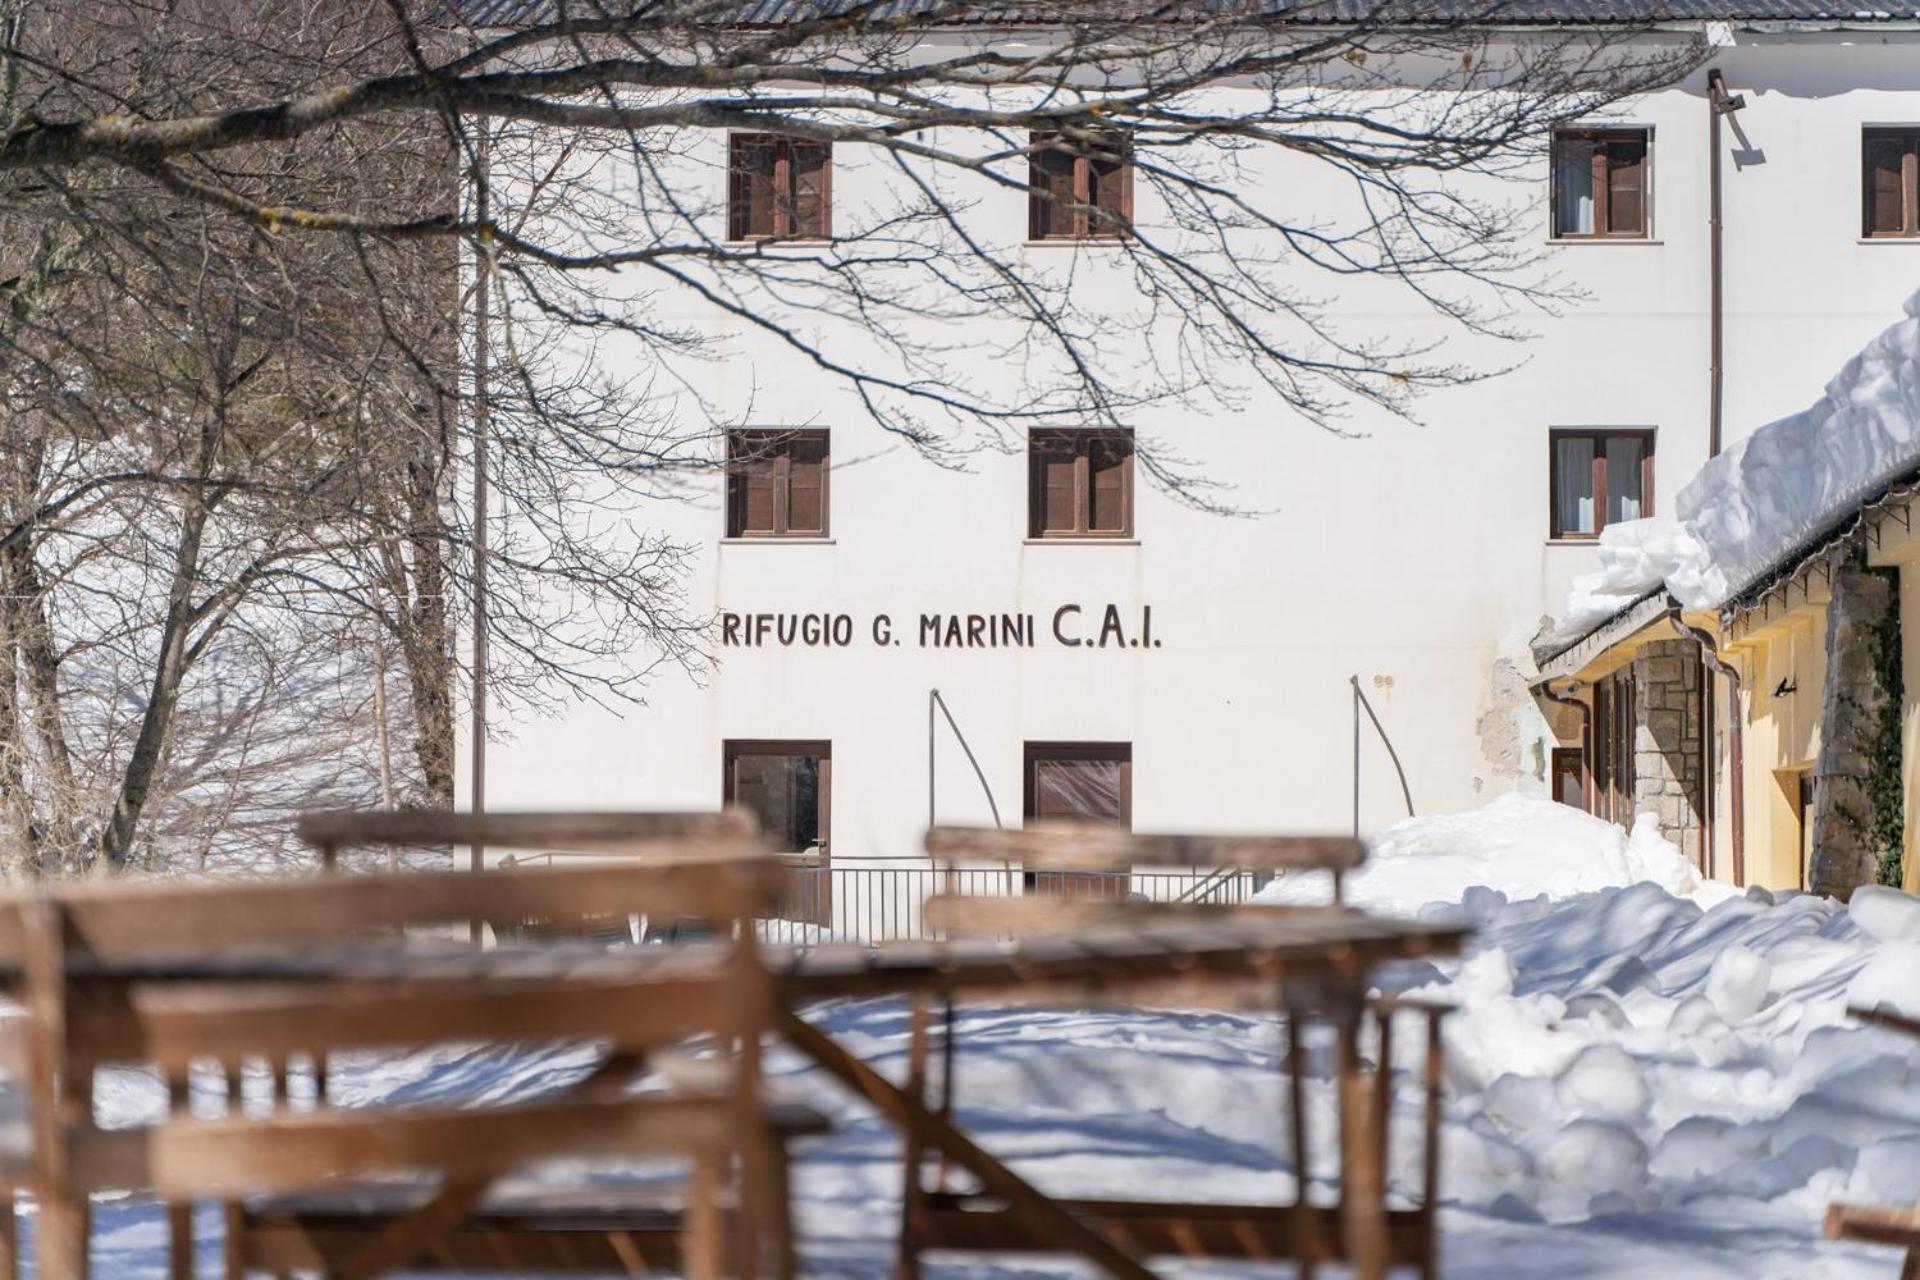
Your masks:
M 298 700 L 374 645 L 403 672 L 411 775 L 451 802 L 480 296 L 511 516 L 486 558 L 490 645 L 497 687 L 534 704 L 636 699 L 657 664 L 701 660 L 691 549 L 643 512 L 716 464 L 728 409 L 695 388 L 726 332 L 950 464 L 1181 399 L 1261 397 L 1342 430 L 1356 405 L 1411 413 L 1496 372 L 1340 326 L 1325 297 L 1392 290 L 1457 334 L 1523 334 L 1557 294 L 1523 205 L 1469 178 L 1524 173 L 1555 127 L 1701 56 L 1674 33 L 1501 17 L 1494 0 L 0 0 L 0 825 L 69 850 L 36 865 L 125 865 L 142 829 L 184 829 L 156 802 L 232 825 L 242 783 L 217 804 L 196 787 L 267 794 L 236 762 L 284 741 L 286 702 L 234 702 L 211 674 Z M 837 209 L 829 238 L 733 238 L 733 130 L 860 155 L 881 194 Z M 1071 209 L 1110 223 L 1131 342 L 1079 255 L 1041 261 L 979 217 L 1000 196 L 1071 203 L 1035 182 L 1058 154 L 1135 175 L 1133 217 Z M 1165 441 L 1139 457 L 1219 501 Z M 634 528 L 605 537 L 609 518 Z

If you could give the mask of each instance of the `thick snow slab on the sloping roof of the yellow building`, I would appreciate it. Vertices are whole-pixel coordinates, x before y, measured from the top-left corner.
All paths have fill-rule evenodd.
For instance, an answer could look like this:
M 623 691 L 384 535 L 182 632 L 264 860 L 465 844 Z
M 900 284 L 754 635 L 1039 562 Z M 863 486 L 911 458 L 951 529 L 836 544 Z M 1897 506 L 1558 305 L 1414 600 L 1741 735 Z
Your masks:
M 1542 645 L 1571 643 L 1667 589 L 1715 608 L 1920 466 L 1920 294 L 1826 384 L 1826 395 L 1711 459 L 1676 516 L 1607 526 L 1599 572 L 1576 578 Z

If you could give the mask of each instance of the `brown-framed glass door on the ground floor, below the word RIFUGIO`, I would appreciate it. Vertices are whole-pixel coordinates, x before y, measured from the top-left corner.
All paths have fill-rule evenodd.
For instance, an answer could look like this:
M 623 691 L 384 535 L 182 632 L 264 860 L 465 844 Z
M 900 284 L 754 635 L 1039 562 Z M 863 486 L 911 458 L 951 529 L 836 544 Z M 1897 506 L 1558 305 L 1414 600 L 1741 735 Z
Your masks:
M 722 798 L 760 819 L 774 850 L 789 854 L 783 919 L 833 921 L 828 862 L 833 816 L 833 745 L 822 741 L 728 741 Z

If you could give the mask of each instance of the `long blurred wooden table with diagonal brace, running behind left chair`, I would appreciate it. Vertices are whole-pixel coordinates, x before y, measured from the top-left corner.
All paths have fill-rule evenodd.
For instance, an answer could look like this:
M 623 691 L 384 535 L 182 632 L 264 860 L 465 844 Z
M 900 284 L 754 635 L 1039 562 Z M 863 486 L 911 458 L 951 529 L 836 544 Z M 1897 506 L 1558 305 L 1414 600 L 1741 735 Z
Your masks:
M 924 1234 L 927 1247 L 1068 1249 L 1114 1276 L 1144 1280 L 1150 1253 L 1175 1242 L 1188 1253 L 1236 1253 L 1242 1257 L 1300 1257 L 1304 1274 L 1319 1259 L 1348 1259 L 1356 1274 L 1380 1276 L 1394 1261 L 1415 1259 L 1423 1268 L 1430 1251 L 1417 1236 L 1430 1238 L 1430 1201 L 1413 1213 L 1386 1209 L 1384 1117 L 1386 1073 L 1365 1077 L 1357 1054 L 1357 1027 L 1365 1009 L 1369 975 L 1382 963 L 1446 956 L 1459 948 L 1463 931 L 1446 925 L 1390 923 L 1357 913 L 1327 912 L 1277 917 L 1173 921 L 1154 929 L 1094 931 L 1077 938 L 1027 938 L 1021 942 L 904 942 L 877 948 L 833 944 L 812 950 L 768 946 L 760 961 L 772 973 L 780 1011 L 776 1027 L 801 1054 L 831 1077 L 868 1098 L 924 1148 L 950 1159 L 979 1180 L 1004 1207 L 983 1213 L 964 1197 L 920 1205 L 908 1230 Z M 399 992 L 420 992 L 422 1013 L 442 986 L 488 990 L 497 996 L 516 1034 L 566 1034 L 566 994 L 595 992 L 605 998 L 624 990 L 632 1015 L 651 1023 L 668 1015 L 647 1007 L 647 988 L 697 971 L 714 956 L 703 946 L 636 946 L 607 950 L 593 944 L 543 942 L 476 950 L 470 944 L 399 946 L 372 940 L 290 952 L 227 952 L 215 956 L 81 954 L 69 979 L 86 988 L 113 990 L 113 1007 L 132 1013 L 138 1042 L 98 1044 L 98 1059 L 125 1048 L 140 1059 L 184 1063 L 192 1057 L 227 1057 L 257 1052 L 263 1042 L 284 1038 L 286 1052 L 301 1052 L 311 1034 L 309 1019 L 338 1019 L 357 990 L 380 994 L 392 1007 Z M 6 965 L 0 965 L 4 969 Z M 4 977 L 4 973 L 0 973 Z M 1173 990 L 1169 990 L 1173 984 Z M 803 1017 L 822 1000 L 935 994 L 972 1002 L 1133 1004 L 1152 990 L 1165 1002 L 1204 1007 L 1210 994 L 1265 992 L 1267 1007 L 1296 1015 L 1311 1009 L 1340 1031 L 1342 1199 L 1336 1209 L 1311 1207 L 1306 1192 L 1294 1205 L 1123 1205 L 1069 1201 L 1035 1190 L 1004 1161 L 968 1138 L 945 1105 L 929 1105 L 924 1090 L 902 1088 Z M 71 1032 L 88 1032 L 88 1013 L 73 1015 Z M 113 1019 L 119 1027 L 129 1023 Z M 1438 1019 L 1432 1023 L 1438 1029 Z M 419 1027 L 407 1034 L 417 1036 Z M 263 1040 L 265 1032 L 265 1040 Z M 111 1038 L 102 1025 L 98 1034 Z M 1438 1034 L 1432 1036 L 1438 1052 Z M 1302 1057 L 1290 1054 L 1298 1111 Z M 215 1138 L 257 1146 L 265 1132 L 221 1136 L 198 1132 L 115 1130 L 100 1134 L 100 1159 L 140 1174 L 140 1186 L 184 1157 L 205 1163 L 219 1151 Z M 182 1146 L 190 1144 L 190 1146 Z M 209 1146 L 213 1144 L 213 1146 Z M 1304 1169 L 1304 1132 L 1294 1134 L 1294 1163 Z M 1432 1151 L 1428 1151 L 1428 1167 Z M 102 1184 L 102 1182 L 96 1182 Z M 1304 1180 L 1302 1180 L 1304 1184 Z M 129 1184 L 134 1186 L 134 1184 Z M 165 1188 L 163 1188 L 165 1190 Z M 182 1186 L 179 1190 L 204 1190 Z M 912 1207 L 910 1207 L 912 1209 Z

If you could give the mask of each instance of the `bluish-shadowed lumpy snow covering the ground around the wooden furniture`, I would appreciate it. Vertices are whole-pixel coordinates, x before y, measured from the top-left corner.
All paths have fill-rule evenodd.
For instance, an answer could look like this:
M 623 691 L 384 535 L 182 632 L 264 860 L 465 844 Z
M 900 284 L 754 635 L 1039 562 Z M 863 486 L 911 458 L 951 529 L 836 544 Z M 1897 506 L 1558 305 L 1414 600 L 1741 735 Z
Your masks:
M 1463 963 L 1386 979 L 1459 1006 L 1448 1034 L 1448 1276 L 1897 1274 L 1893 1251 L 1822 1242 L 1820 1219 L 1836 1197 L 1905 1205 L 1920 1194 L 1920 1044 L 1851 1025 L 1843 1011 L 1849 988 L 1914 998 L 1920 902 L 1878 890 L 1849 910 L 1699 887 L 1649 833 L 1628 839 L 1532 800 L 1415 819 L 1377 848 L 1356 896 L 1398 910 L 1442 898 L 1450 904 L 1425 910 L 1465 912 L 1478 927 Z M 1306 892 L 1304 881 L 1284 892 Z M 900 1069 L 900 1006 L 814 1015 L 885 1071 Z M 968 1009 L 960 1034 L 964 1126 L 1043 1188 L 1227 1201 L 1292 1190 L 1279 1155 L 1273 1019 Z M 1409 1054 L 1392 1171 L 1404 1192 L 1419 1167 L 1419 1046 L 1402 1036 L 1396 1048 Z M 1317 1046 L 1308 1090 L 1317 1196 L 1331 1196 L 1329 1055 Z M 442 1052 L 361 1061 L 338 1080 L 367 1102 L 497 1098 L 555 1088 L 588 1063 L 584 1052 Z M 837 1121 L 797 1167 L 808 1272 L 879 1280 L 897 1222 L 899 1142 L 799 1059 L 774 1065 L 783 1086 Z M 157 1086 L 134 1079 L 104 1098 L 109 1117 L 157 1103 Z M 98 1247 L 96 1274 L 163 1274 L 159 1219 L 144 1205 L 102 1205 Z M 202 1261 L 213 1274 L 211 1255 Z M 954 1276 L 1077 1272 L 1060 1259 L 935 1255 L 931 1265 Z M 1260 1270 L 1171 1267 L 1181 1276 Z

